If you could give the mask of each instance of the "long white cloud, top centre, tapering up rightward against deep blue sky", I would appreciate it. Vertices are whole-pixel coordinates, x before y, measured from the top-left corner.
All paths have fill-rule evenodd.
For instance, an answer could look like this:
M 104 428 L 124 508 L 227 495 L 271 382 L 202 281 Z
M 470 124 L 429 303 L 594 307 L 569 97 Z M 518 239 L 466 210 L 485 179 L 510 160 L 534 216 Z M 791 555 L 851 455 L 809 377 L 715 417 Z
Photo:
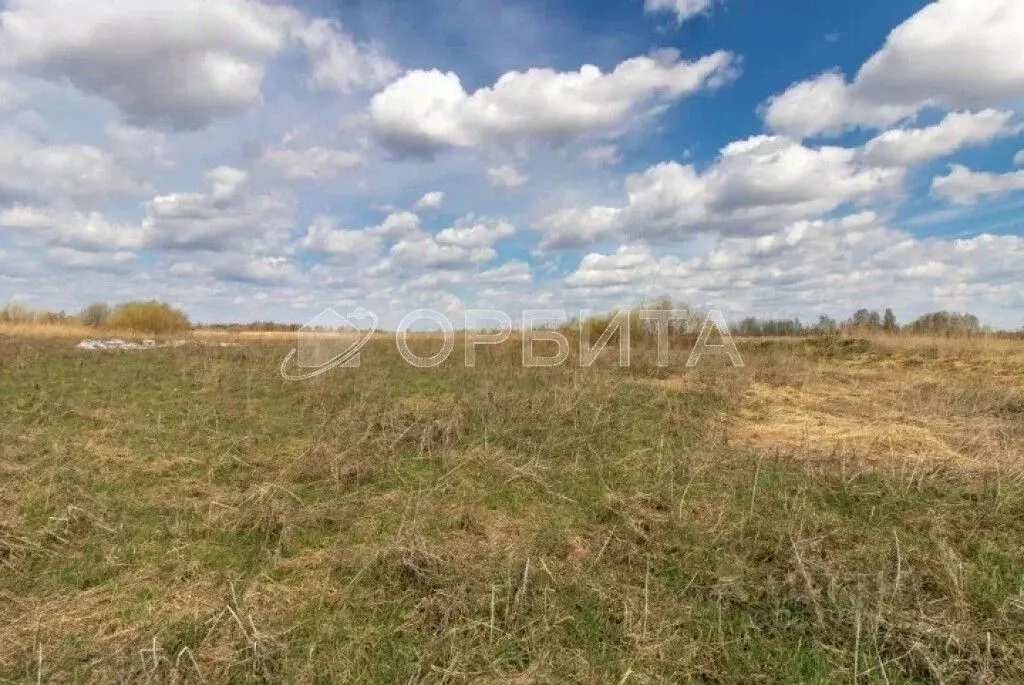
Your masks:
M 404 155 L 430 156 L 493 140 L 560 142 L 610 129 L 646 103 L 679 99 L 735 74 L 728 52 L 688 62 L 674 50 L 662 50 L 627 59 L 610 73 L 593 65 L 579 72 L 508 72 L 470 94 L 453 72 L 417 70 L 377 93 L 371 116 L 377 138 Z

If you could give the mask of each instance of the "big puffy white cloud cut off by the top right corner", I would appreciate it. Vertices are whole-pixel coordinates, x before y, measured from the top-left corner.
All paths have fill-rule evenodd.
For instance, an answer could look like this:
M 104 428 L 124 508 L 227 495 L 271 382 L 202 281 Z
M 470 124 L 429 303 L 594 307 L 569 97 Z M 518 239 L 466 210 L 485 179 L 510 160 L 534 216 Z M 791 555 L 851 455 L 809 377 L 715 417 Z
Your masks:
M 1018 0 L 938 0 L 894 29 L 852 82 L 826 73 L 795 84 L 766 103 L 765 120 L 809 136 L 888 126 L 926 106 L 1005 104 L 1024 96 L 1022 33 Z

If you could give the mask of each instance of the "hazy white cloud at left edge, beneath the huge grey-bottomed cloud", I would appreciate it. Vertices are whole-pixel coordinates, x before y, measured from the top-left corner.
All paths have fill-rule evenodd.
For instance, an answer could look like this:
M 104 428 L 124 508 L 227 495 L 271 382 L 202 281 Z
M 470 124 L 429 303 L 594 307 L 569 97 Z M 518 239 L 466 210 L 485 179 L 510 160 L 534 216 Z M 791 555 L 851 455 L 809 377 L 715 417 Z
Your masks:
M 92 145 L 41 144 L 0 131 L 0 197 L 87 199 L 144 190 L 108 152 Z

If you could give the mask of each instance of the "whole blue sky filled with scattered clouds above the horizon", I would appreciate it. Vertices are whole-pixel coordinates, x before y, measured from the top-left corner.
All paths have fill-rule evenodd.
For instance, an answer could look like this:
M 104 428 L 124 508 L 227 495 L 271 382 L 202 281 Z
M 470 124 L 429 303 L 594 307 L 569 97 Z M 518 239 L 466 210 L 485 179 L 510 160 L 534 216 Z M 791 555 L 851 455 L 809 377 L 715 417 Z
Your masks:
M 0 302 L 1024 326 L 1019 0 L 0 0 Z

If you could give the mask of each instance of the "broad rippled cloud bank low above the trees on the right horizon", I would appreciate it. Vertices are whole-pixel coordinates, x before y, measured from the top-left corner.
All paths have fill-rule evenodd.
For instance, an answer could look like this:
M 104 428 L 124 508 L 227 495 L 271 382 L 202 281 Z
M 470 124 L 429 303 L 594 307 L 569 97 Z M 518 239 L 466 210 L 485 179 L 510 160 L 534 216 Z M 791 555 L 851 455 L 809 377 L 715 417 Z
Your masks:
M 721 238 L 689 256 L 622 245 L 585 255 L 564 285 L 569 299 L 612 303 L 671 292 L 737 315 L 861 306 L 978 310 L 1019 306 L 1022 259 L 1018 236 L 916 238 L 860 212 Z

